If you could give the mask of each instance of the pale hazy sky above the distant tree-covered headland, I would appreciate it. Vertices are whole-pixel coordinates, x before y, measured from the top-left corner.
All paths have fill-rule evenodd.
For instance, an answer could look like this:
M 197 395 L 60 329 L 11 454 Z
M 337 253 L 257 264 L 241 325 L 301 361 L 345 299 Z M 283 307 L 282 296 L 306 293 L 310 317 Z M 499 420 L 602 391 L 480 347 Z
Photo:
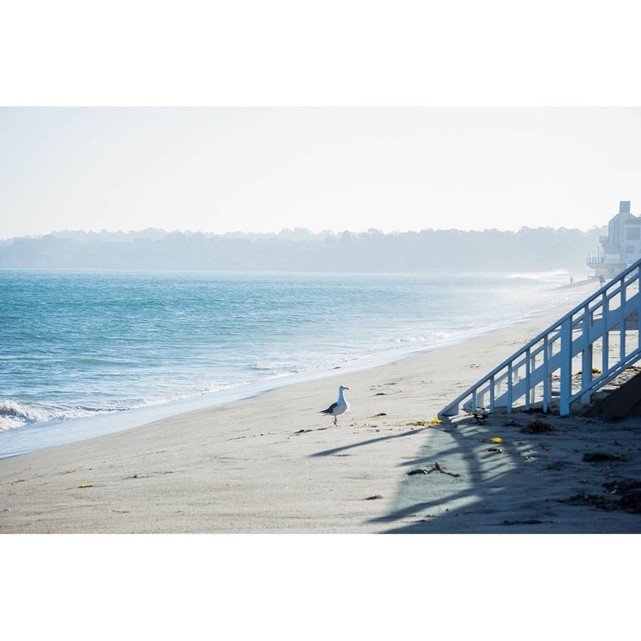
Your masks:
M 640 148 L 633 108 L 3 108 L 0 237 L 589 229 Z

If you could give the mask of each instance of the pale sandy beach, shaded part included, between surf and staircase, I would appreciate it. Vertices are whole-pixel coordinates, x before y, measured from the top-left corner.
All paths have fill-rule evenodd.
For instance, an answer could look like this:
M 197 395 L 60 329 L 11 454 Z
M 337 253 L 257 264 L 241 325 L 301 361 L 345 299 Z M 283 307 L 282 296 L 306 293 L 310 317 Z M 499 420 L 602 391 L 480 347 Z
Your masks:
M 641 480 L 641 419 L 434 421 L 563 311 L 3 459 L 0 533 L 639 533 L 620 499 Z M 335 427 L 319 412 L 341 384 Z

